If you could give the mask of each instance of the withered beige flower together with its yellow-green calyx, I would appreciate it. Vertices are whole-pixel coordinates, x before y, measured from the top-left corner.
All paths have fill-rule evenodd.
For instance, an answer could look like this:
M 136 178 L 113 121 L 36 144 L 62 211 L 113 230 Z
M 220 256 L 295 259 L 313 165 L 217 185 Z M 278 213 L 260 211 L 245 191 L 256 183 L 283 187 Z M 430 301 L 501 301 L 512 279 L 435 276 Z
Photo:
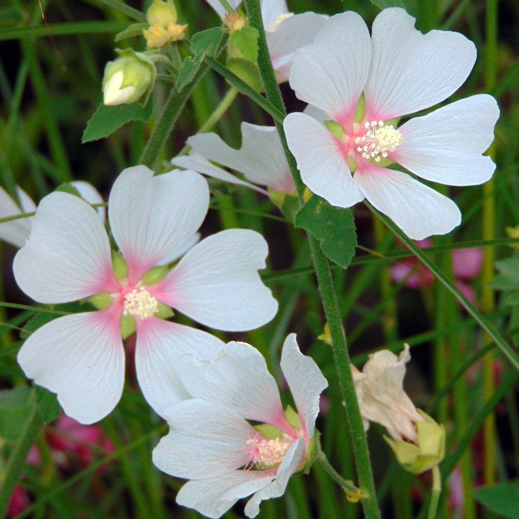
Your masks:
M 370 421 L 383 425 L 385 438 L 401 465 L 419 474 L 431 469 L 445 454 L 445 429 L 417 409 L 404 391 L 405 364 L 411 360 L 409 346 L 397 357 L 389 350 L 372 353 L 359 371 L 351 372 L 364 429 Z

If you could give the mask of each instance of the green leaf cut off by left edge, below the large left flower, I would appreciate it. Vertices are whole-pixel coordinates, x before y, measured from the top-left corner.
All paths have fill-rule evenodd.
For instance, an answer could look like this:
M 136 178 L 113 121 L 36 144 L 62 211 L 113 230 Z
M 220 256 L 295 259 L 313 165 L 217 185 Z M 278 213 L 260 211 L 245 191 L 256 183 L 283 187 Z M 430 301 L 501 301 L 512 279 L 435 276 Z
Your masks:
M 0 436 L 8 442 L 18 440 L 33 405 L 31 388 L 28 386 L 0 391 Z

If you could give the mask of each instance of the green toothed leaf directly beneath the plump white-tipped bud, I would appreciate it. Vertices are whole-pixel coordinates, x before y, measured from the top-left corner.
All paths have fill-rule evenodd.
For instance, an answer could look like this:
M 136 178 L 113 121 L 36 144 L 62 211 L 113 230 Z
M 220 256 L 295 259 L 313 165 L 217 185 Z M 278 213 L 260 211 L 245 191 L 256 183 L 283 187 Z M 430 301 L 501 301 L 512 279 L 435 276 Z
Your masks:
M 147 122 L 152 116 L 152 107 L 152 101 L 148 101 L 146 106 L 140 103 L 106 106 L 101 103 L 88 121 L 81 142 L 103 139 L 130 121 Z

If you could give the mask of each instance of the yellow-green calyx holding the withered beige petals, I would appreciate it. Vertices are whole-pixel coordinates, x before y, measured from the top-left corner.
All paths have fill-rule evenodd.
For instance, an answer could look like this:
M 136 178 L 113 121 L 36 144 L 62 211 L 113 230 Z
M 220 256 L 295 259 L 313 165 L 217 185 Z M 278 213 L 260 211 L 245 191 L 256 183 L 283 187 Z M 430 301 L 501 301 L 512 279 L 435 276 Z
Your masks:
M 432 469 L 445 456 L 445 428 L 426 413 L 417 409 L 424 422 L 416 422 L 418 439 L 415 443 L 384 439 L 393 449 L 395 456 L 404 469 L 413 474 L 421 474 Z

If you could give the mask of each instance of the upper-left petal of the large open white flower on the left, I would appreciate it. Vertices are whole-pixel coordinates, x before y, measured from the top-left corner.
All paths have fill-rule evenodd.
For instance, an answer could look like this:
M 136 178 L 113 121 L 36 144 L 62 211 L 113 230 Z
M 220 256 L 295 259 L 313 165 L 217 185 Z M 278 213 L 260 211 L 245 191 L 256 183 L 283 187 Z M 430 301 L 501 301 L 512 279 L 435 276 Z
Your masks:
M 110 242 L 98 214 L 75 195 L 51 193 L 13 262 L 20 288 L 40 303 L 66 303 L 114 288 Z

